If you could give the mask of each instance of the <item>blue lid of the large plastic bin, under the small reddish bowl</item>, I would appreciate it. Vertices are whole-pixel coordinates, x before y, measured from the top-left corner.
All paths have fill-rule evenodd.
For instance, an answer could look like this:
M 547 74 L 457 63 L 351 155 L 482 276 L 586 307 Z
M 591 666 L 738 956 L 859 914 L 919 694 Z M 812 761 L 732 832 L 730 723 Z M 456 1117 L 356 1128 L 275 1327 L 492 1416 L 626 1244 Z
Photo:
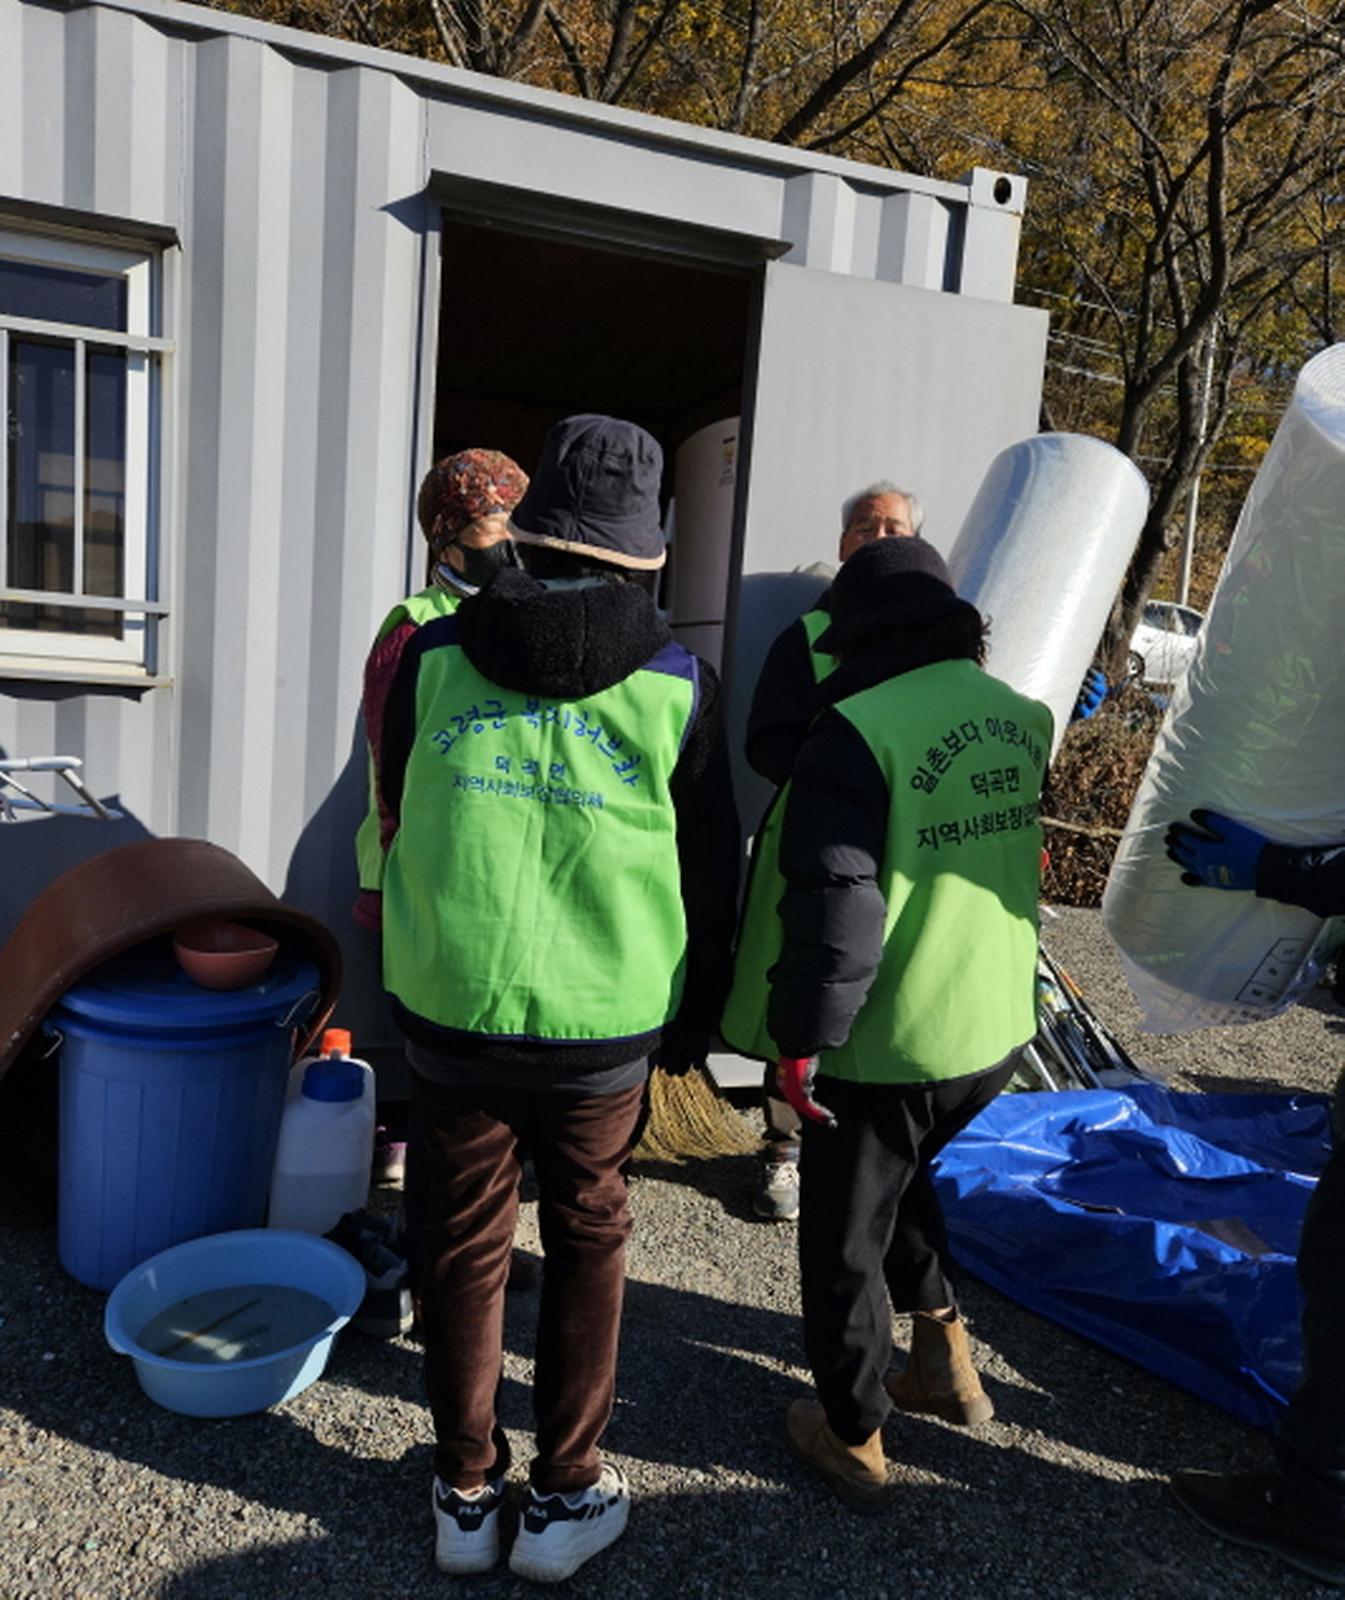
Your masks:
M 312 962 L 281 950 L 261 982 L 246 989 L 202 989 L 178 965 L 173 946 L 155 939 L 106 962 L 67 989 L 56 1016 L 118 1032 L 232 1030 L 280 1022 L 305 994 L 318 1003 L 321 984 Z M 307 1010 L 296 1011 L 301 1022 Z

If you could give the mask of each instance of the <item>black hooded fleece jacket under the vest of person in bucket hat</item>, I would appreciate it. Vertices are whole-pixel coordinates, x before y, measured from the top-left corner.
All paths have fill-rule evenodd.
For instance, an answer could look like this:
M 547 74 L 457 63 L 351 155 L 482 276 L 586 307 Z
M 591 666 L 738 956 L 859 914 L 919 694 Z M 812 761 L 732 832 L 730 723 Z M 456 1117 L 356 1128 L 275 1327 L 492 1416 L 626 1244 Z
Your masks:
M 416 680 L 421 658 L 453 630 L 464 654 L 501 688 L 577 701 L 621 683 L 672 638 L 649 595 L 635 584 L 547 589 L 526 573 L 505 568 L 456 618 L 427 622 L 408 643 L 384 712 L 379 784 L 393 816 L 416 734 Z M 667 1067 L 704 1058 L 731 976 L 737 902 L 739 829 L 723 725 L 723 696 L 715 669 L 699 662 L 700 694 L 686 742 L 672 774 L 681 899 L 686 910 L 686 981 L 676 1018 L 640 1040 L 555 1045 L 481 1040 L 472 1034 L 417 1029 L 398 1021 L 430 1050 L 449 1048 L 464 1059 L 486 1058 L 550 1070 L 557 1058 L 576 1074 L 601 1070 L 651 1054 Z

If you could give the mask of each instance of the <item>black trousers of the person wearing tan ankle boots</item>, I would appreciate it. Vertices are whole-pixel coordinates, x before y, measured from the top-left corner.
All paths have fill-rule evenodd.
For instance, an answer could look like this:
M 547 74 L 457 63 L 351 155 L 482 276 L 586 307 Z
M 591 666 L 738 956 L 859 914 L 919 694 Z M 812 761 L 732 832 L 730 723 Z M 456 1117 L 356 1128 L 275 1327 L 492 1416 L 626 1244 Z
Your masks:
M 827 1421 L 848 1445 L 864 1443 L 892 1408 L 883 1387 L 892 1310 L 956 1304 L 929 1165 L 1012 1070 L 1006 1061 L 940 1083 L 817 1078 L 836 1126 L 803 1125 L 803 1339 Z

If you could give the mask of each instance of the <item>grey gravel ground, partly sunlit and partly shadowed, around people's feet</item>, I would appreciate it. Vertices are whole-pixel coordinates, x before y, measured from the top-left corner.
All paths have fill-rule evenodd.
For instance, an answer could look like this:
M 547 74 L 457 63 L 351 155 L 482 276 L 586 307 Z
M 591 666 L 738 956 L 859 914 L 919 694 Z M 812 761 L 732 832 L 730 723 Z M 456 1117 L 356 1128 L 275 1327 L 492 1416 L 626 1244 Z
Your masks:
M 1339 1013 L 1140 1040 L 1097 914 L 1046 941 L 1094 1010 L 1182 1088 L 1327 1090 Z M 846 1512 L 793 1464 L 777 1419 L 804 1392 L 793 1230 L 755 1222 L 753 1163 L 641 1168 L 608 1448 L 637 1504 L 574 1597 L 1327 1595 L 1179 1512 L 1179 1466 L 1252 1466 L 1260 1435 L 976 1282 L 964 1304 L 998 1408 L 972 1430 L 888 1430 L 891 1515 Z M 533 1243 L 525 1210 L 521 1243 Z M 0 1595 L 269 1600 L 536 1592 L 507 1571 L 445 1579 L 430 1558 L 430 1424 L 411 1341 L 345 1336 L 321 1382 L 261 1416 L 200 1422 L 146 1400 L 69 1280 L 50 1227 L 0 1227 Z M 502 1410 L 528 1456 L 536 1294 L 510 1296 Z M 897 1344 L 905 1328 L 897 1326 Z

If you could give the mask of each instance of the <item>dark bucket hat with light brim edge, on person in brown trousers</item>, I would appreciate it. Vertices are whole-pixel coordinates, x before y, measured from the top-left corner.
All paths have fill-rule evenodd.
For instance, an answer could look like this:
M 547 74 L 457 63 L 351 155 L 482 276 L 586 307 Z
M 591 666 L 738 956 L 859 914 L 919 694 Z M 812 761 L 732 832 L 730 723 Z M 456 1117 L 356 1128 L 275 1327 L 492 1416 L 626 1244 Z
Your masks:
M 509 531 L 520 544 L 653 571 L 667 560 L 659 520 L 664 453 L 635 422 L 568 416 L 542 442 Z

